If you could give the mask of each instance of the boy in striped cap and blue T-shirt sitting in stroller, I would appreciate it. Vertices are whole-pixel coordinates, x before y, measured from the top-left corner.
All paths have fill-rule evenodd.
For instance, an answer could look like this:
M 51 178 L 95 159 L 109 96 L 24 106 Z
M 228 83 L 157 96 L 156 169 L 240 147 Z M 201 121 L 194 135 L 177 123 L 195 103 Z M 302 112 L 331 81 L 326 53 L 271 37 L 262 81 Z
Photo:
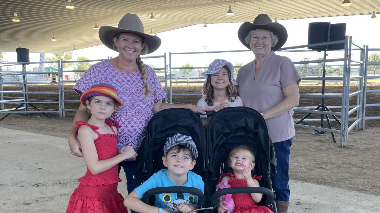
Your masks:
M 154 207 L 141 201 L 142 195 L 151 188 L 163 186 L 189 186 L 204 192 L 201 176 L 190 171 L 194 168 L 198 150 L 192 137 L 176 133 L 166 139 L 162 161 L 166 169 L 154 173 L 146 182 L 124 200 L 124 205 L 140 213 L 190 213 L 198 208 L 198 197 L 188 193 L 155 194 Z M 157 209 L 158 208 L 158 209 Z

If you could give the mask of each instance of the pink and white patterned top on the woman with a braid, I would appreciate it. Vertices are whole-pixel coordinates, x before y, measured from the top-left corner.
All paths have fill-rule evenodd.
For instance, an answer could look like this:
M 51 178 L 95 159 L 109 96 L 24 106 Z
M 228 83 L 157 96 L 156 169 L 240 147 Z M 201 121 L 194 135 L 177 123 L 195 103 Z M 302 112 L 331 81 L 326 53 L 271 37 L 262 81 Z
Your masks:
M 112 84 L 117 91 L 117 97 L 124 106 L 119 106 L 109 119 L 117 121 L 120 128 L 117 130 L 117 149 L 133 146 L 136 150 L 145 135 L 145 127 L 152 118 L 154 103 L 160 102 L 166 94 L 158 80 L 154 69 L 146 66 L 147 83 L 153 92 L 146 99 L 142 93 L 144 83 L 140 70 L 136 72 L 120 72 L 113 67 L 109 60 L 93 64 L 74 85 L 79 96 L 96 83 Z

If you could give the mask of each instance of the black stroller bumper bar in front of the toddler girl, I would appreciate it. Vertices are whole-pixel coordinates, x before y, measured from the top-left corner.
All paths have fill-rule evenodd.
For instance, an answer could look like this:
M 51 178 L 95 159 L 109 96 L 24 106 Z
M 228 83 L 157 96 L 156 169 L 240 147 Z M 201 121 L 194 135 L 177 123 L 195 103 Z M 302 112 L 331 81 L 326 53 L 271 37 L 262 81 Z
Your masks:
M 273 192 L 265 187 L 231 187 L 231 188 L 224 188 L 216 191 L 211 196 L 211 206 L 217 207 L 218 206 L 218 198 L 225 194 L 239 194 L 239 193 L 259 193 L 259 194 L 265 194 L 266 200 L 265 204 L 270 205 L 273 202 Z

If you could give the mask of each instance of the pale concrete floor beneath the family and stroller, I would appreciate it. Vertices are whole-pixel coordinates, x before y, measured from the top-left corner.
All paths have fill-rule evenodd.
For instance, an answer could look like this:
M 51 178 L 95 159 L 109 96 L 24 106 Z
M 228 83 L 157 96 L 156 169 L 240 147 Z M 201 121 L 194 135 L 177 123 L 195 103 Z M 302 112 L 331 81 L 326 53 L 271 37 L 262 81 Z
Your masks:
M 66 138 L 0 127 L 0 212 L 64 212 L 86 172 Z M 123 175 L 120 175 L 120 177 Z M 125 196 L 125 177 L 119 192 Z M 290 181 L 292 212 L 380 212 L 380 196 Z

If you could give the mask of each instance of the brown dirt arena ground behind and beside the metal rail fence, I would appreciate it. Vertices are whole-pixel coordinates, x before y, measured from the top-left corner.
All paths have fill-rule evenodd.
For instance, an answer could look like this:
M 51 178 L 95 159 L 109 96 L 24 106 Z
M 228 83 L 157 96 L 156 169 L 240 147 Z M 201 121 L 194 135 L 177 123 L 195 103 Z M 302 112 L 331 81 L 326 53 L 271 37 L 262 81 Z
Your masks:
M 351 91 L 356 91 L 357 86 L 351 85 Z M 4 86 L 4 89 L 17 90 L 21 86 Z M 56 85 L 29 86 L 29 91 L 57 91 Z M 72 89 L 72 85 L 65 86 Z M 198 93 L 201 86 L 176 86 L 173 93 Z M 302 85 L 300 93 L 318 93 L 320 85 Z M 380 85 L 369 85 L 368 89 L 380 89 Z M 341 86 L 328 85 L 326 92 L 341 92 Z M 7 96 L 5 94 L 5 96 Z M 12 94 L 12 96 L 16 96 Z M 58 100 L 57 95 L 34 94 L 30 99 Z M 75 93 L 66 93 L 65 99 L 79 99 Z M 199 97 L 177 96 L 173 103 L 196 104 Z M 315 106 L 320 103 L 317 98 L 301 98 L 299 106 Z M 356 98 L 350 99 L 350 104 L 356 103 Z M 380 103 L 379 93 L 367 95 L 367 103 Z M 341 99 L 326 99 L 326 104 L 340 105 Z M 37 107 L 42 107 L 36 104 Z M 6 106 L 10 108 L 9 106 Z M 57 109 L 57 104 L 43 108 Z M 65 108 L 78 108 L 77 103 L 67 103 Z M 370 107 L 366 110 L 367 116 L 379 116 L 379 107 Z M 60 119 L 57 114 L 51 114 L 52 119 L 45 116 L 25 117 L 13 114 L 3 121 L 0 127 L 17 129 L 43 135 L 67 138 L 70 131 L 73 113 L 67 113 L 67 117 Z M 304 114 L 294 114 L 294 119 L 301 118 Z M 352 116 L 355 116 L 353 113 Z M 318 116 L 315 116 L 318 118 Z M 315 124 L 318 125 L 318 124 Z M 336 125 L 335 128 L 339 128 Z M 353 130 L 348 135 L 348 147 L 340 148 L 339 135 L 336 135 L 338 143 L 332 143 L 331 134 L 312 135 L 313 130 L 296 128 L 296 136 L 291 146 L 290 179 L 317 185 L 333 186 L 337 188 L 357 191 L 380 196 L 380 121 L 366 121 L 363 131 Z M 68 148 L 67 148 L 68 149 Z

